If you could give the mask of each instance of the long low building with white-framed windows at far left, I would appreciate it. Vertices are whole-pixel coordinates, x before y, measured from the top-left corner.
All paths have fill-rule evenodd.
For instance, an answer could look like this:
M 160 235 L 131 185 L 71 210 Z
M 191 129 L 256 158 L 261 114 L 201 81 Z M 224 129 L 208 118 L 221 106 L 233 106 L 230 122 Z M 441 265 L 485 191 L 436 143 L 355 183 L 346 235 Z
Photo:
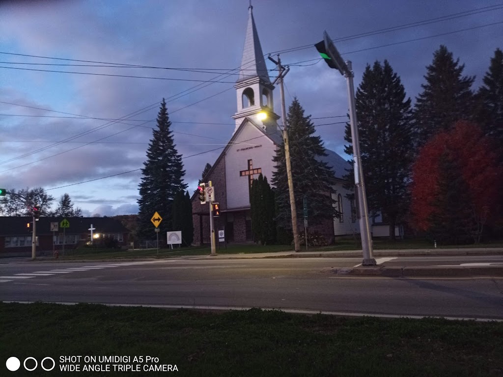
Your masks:
M 61 228 L 62 217 L 41 217 L 36 223 L 37 255 L 50 255 L 53 250 L 74 249 L 91 242 L 100 243 L 109 237 L 117 240 L 118 246 L 125 247 L 129 236 L 120 221 L 111 217 L 67 217 L 68 227 Z M 57 231 L 51 231 L 51 224 L 57 224 Z M 28 226 L 29 225 L 29 226 Z M 0 217 L 0 257 L 10 255 L 31 255 L 32 217 Z

